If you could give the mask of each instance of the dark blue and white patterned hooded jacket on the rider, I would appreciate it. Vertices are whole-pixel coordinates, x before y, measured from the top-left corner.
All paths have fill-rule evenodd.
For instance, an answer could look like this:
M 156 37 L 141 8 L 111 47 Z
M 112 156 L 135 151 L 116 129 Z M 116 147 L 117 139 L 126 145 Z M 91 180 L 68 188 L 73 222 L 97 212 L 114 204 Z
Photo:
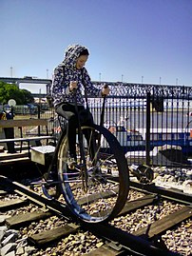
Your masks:
M 86 49 L 80 45 L 67 47 L 64 61 L 54 69 L 51 95 L 54 107 L 63 102 L 74 104 L 74 93 L 69 91 L 70 81 L 77 81 L 76 97 L 78 105 L 84 105 L 84 90 L 91 96 L 101 96 L 101 90 L 96 89 L 87 73 L 86 68 L 76 69 L 76 61 L 82 50 Z M 84 81 L 84 82 L 83 82 Z

